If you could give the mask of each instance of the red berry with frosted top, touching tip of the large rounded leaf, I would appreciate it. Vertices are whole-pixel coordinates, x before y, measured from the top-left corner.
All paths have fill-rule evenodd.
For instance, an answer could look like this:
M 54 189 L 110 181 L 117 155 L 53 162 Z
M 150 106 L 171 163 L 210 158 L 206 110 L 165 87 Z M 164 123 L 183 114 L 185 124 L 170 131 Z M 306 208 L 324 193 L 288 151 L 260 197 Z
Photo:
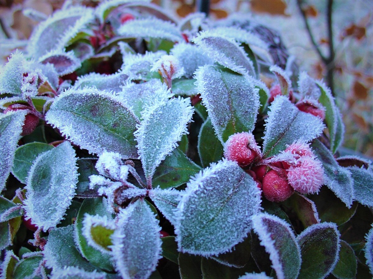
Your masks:
M 260 154 L 254 136 L 247 132 L 231 135 L 224 145 L 224 157 L 237 162 L 240 166 L 250 165 Z

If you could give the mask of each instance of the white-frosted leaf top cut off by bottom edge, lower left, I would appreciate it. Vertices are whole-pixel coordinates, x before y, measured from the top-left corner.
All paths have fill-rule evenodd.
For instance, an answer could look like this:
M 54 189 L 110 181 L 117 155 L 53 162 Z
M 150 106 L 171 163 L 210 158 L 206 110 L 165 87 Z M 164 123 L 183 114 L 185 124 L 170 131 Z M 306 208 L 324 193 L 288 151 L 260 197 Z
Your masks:
M 97 272 L 93 270 L 92 272 L 87 272 L 84 269 L 80 269 L 75 266 L 65 266 L 63 268 L 54 268 L 52 270 L 50 279 L 105 279 L 105 272 Z

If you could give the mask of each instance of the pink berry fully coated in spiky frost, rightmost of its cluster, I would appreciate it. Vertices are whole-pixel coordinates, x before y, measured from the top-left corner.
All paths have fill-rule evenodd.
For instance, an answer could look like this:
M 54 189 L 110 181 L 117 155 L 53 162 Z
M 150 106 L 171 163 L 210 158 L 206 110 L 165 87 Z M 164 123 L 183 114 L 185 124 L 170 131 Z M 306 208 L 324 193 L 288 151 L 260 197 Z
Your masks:
M 296 166 L 288 169 L 288 181 L 291 187 L 301 194 L 313 194 L 324 183 L 322 163 L 313 157 L 301 157 Z

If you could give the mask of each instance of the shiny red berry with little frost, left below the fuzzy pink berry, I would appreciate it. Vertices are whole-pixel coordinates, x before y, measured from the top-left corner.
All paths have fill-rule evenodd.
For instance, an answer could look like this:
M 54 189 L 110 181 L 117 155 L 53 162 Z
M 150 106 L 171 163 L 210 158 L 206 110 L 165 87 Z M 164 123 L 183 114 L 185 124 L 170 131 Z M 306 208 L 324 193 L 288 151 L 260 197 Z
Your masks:
M 275 170 L 266 173 L 263 177 L 262 187 L 264 196 L 271 202 L 285 201 L 294 193 L 286 176 L 280 175 Z

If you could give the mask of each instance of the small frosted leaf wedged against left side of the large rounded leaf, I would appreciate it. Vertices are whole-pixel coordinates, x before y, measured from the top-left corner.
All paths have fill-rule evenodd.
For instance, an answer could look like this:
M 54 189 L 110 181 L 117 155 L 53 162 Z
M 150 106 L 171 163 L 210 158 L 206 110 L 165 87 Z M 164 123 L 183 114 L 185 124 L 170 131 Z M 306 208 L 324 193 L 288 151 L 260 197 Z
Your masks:
M 171 224 L 175 225 L 175 210 L 181 200 L 181 192 L 174 189 L 161 189 L 157 187 L 149 191 L 149 198 L 151 198 L 164 217 Z

